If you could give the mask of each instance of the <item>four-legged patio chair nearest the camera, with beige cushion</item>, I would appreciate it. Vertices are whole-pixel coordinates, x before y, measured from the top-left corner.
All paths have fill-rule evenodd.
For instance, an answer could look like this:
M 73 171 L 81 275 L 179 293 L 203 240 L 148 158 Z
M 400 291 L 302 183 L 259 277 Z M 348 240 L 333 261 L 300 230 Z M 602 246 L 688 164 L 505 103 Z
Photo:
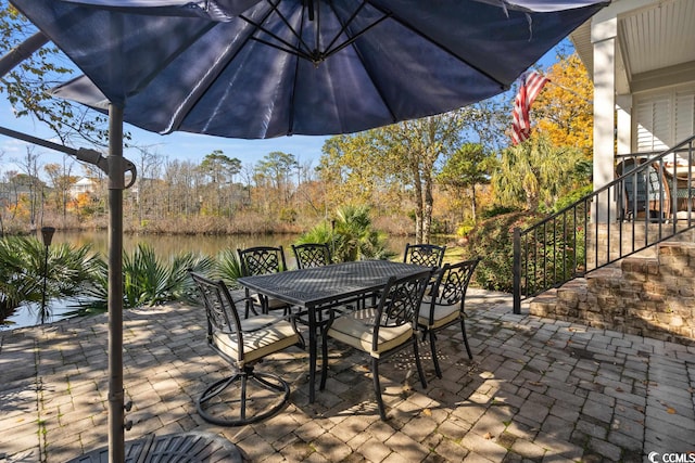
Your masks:
M 382 421 L 387 420 L 387 414 L 381 398 L 379 362 L 413 346 L 420 383 L 422 388 L 427 387 L 418 352 L 417 314 L 431 274 L 428 270 L 401 279 L 392 276 L 380 290 L 376 307 L 355 310 L 345 316 L 330 312 L 330 318 L 321 330 L 321 390 L 326 387 L 328 373 L 329 337 L 369 355 L 374 393 Z

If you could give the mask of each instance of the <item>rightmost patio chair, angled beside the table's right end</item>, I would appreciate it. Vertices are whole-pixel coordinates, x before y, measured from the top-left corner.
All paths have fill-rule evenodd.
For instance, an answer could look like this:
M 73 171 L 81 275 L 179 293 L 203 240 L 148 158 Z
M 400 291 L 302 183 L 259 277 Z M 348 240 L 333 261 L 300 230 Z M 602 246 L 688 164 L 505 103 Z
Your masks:
M 468 336 L 466 336 L 464 306 L 468 283 L 478 262 L 480 262 L 480 259 L 464 260 L 453 265 L 445 263 L 434 281 L 431 294 L 424 298 L 420 306 L 418 325 L 422 327 L 422 339 L 429 335 L 437 377 L 442 377 L 442 370 L 437 357 L 438 332 L 460 323 L 460 332 L 464 336 L 468 358 L 471 360 L 473 358 L 468 345 Z

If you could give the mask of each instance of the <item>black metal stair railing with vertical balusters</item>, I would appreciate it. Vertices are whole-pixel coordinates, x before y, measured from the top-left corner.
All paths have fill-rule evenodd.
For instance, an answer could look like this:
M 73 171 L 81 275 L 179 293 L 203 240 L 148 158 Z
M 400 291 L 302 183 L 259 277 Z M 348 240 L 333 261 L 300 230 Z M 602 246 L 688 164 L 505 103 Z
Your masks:
M 687 155 L 687 172 L 685 177 L 678 176 L 678 167 L 679 165 L 675 163 L 677 154 Z M 656 155 L 654 155 L 656 154 Z M 673 165 L 669 165 L 669 156 L 673 157 Z M 627 169 L 626 171 L 620 172 L 620 175 L 609 183 L 604 187 L 593 191 L 591 194 L 578 200 L 573 204 L 564 207 L 559 211 L 544 218 L 543 220 L 534 223 L 533 226 L 525 229 L 525 230 L 515 230 L 514 233 L 514 311 L 515 313 L 520 313 L 521 307 L 521 298 L 522 293 L 525 293 L 525 297 L 530 297 L 538 295 L 544 291 L 547 291 L 552 287 L 558 287 L 564 283 L 577 278 L 579 274 L 586 273 L 591 270 L 596 270 L 598 268 L 608 266 L 610 263 L 615 263 L 616 261 L 628 257 L 632 254 L 639 253 L 640 250 L 644 250 L 650 246 L 654 246 L 656 243 L 668 240 L 677 234 L 680 234 L 691 228 L 695 227 L 695 222 L 693 220 L 693 216 L 695 209 L 693 209 L 693 200 L 695 200 L 695 187 L 693 185 L 693 180 L 695 179 L 695 134 L 679 142 L 674 146 L 661 151 L 661 152 L 648 152 L 648 153 L 631 153 L 617 155 L 616 159 L 633 159 L 633 168 Z M 641 159 L 641 160 L 640 160 Z M 627 160 L 622 160 L 627 163 Z M 670 180 L 666 180 L 667 175 Z M 658 179 L 655 177 L 658 176 Z M 684 182 L 685 187 L 679 189 L 679 180 Z M 643 183 L 645 187 L 644 191 L 640 191 L 637 185 Z M 652 185 L 652 183 L 656 182 L 657 185 Z M 627 189 L 629 184 L 630 190 Z M 668 189 L 668 190 L 667 190 Z M 682 200 L 683 196 L 679 196 L 681 192 L 685 194 L 686 204 L 686 213 L 687 213 L 687 224 L 685 228 L 679 230 L 678 228 L 678 203 L 679 200 Z M 629 198 L 629 196 L 632 196 Z M 628 197 L 626 200 L 624 197 Z M 587 235 L 589 235 L 589 224 L 593 223 L 596 227 L 595 236 L 598 235 L 598 220 L 594 220 L 590 222 L 591 216 L 591 205 L 598 204 L 598 200 L 607 198 L 605 204 L 608 204 L 607 208 L 607 217 L 605 223 L 611 223 L 611 203 L 616 202 L 616 206 L 618 208 L 618 213 L 616 217 L 612 219 L 619 223 L 618 233 L 620 237 L 620 246 L 618 250 L 618 256 L 615 258 L 610 257 L 610 229 L 608 229 L 608 240 L 607 240 L 607 248 L 599 249 L 598 248 L 598 240 L 595 239 L 594 248 L 592 249 L 595 256 L 595 266 L 589 269 L 589 246 L 587 246 Z M 654 209 L 652 208 L 654 204 Z M 668 207 L 665 207 L 668 206 Z M 641 209 L 644 207 L 644 210 Z M 629 213 L 631 210 L 631 213 Z M 634 240 L 634 231 L 635 224 L 637 223 L 637 215 L 644 213 L 644 224 L 645 224 L 645 243 L 643 245 L 635 247 Z M 653 214 L 653 213 L 656 213 Z M 578 218 L 581 216 L 580 221 L 578 222 Z M 558 219 L 561 218 L 561 223 L 558 224 Z M 622 239 L 623 239 L 623 223 L 626 219 L 629 219 L 632 223 L 632 247 L 628 249 L 626 253 L 622 252 Z M 668 221 L 672 222 L 672 228 L 667 229 L 664 224 Z M 568 221 L 572 223 L 572 230 L 570 231 L 568 228 Z M 656 237 L 652 241 L 648 240 L 647 229 L 649 224 L 658 224 L 658 230 L 656 233 Z M 552 240 L 547 240 L 547 228 L 552 227 Z M 561 259 L 561 266 L 558 269 L 557 259 L 558 254 L 556 249 L 557 241 L 558 241 L 558 231 L 557 228 L 561 228 L 559 232 L 559 240 L 563 244 L 563 254 L 559 255 Z M 583 230 L 583 231 L 582 231 Z M 669 231 L 668 233 L 665 233 Z M 542 240 L 538 240 L 539 233 L 543 233 Z M 578 241 L 578 234 L 583 232 L 583 243 Z M 567 246 L 568 236 L 571 246 Z M 573 240 L 573 242 L 572 242 Z M 528 246 L 525 248 L 523 243 L 532 242 L 534 245 L 533 248 L 533 257 L 538 257 L 538 254 L 542 254 L 543 257 L 543 270 L 547 270 L 547 258 L 548 255 L 552 256 L 553 259 L 553 278 L 549 279 L 545 272 L 543 272 L 541 282 L 536 282 L 535 279 L 536 268 L 539 267 L 539 262 L 533 260 L 531 262 L 533 270 L 533 279 L 532 284 L 529 283 L 529 253 Z M 548 249 L 548 243 L 552 242 L 552 248 Z M 539 245 L 540 244 L 540 245 Z M 583 245 L 583 261 L 581 262 L 582 271 L 577 272 L 577 268 L 580 262 L 577 261 L 578 255 L 578 246 Z M 525 249 L 527 250 L 525 260 Z M 572 271 L 568 271 L 567 269 L 567 258 L 568 258 L 568 249 L 570 249 L 571 257 L 573 260 L 569 263 L 573 263 L 574 268 Z M 598 256 L 599 250 L 606 250 L 608 259 L 599 263 Z M 526 272 L 525 272 L 526 270 Z M 558 276 L 558 272 L 560 276 Z M 526 276 L 526 285 L 523 284 L 523 276 Z M 549 281 L 549 283 L 548 283 Z M 532 291 L 529 291 L 532 287 Z

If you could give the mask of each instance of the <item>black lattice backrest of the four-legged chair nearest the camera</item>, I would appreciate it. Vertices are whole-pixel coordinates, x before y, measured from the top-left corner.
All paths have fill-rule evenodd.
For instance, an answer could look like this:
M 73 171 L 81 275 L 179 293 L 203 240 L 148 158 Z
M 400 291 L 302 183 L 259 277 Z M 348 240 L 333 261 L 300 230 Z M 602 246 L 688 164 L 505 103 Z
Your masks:
M 392 276 L 384 285 L 374 331 L 374 347 L 377 349 L 379 327 L 394 327 L 410 323 L 417 326 L 417 314 L 420 310 L 425 290 L 432 275 L 431 270 L 396 279 Z

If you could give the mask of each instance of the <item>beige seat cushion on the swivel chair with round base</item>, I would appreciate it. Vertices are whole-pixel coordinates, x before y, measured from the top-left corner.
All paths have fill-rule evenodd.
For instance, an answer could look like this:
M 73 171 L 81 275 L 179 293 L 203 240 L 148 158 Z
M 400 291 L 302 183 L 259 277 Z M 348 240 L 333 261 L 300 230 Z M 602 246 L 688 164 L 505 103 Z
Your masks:
M 237 360 L 239 368 L 300 342 L 292 324 L 275 316 L 251 317 L 241 320 L 241 325 L 243 330 L 257 330 L 243 333 L 243 361 L 239 359 L 236 334 L 217 332 L 213 336 L 214 345 Z

